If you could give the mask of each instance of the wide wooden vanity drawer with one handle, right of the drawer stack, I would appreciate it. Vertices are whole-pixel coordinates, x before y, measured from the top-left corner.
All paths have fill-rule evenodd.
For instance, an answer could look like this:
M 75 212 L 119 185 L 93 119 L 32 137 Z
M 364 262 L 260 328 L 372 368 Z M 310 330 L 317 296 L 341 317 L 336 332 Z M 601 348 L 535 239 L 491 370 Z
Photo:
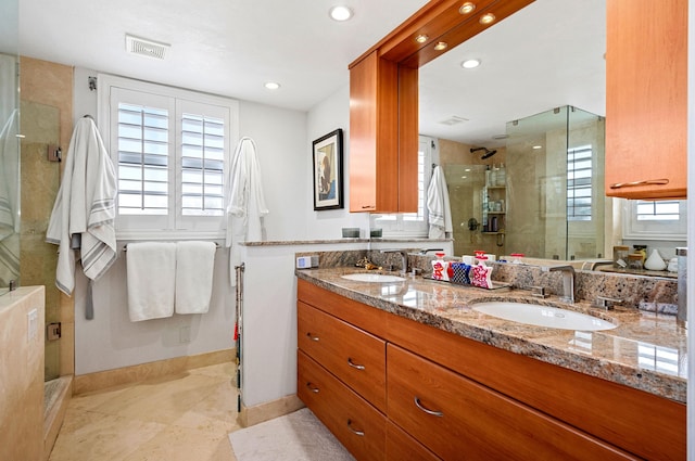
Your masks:
M 635 459 L 397 346 L 388 415 L 443 459 Z

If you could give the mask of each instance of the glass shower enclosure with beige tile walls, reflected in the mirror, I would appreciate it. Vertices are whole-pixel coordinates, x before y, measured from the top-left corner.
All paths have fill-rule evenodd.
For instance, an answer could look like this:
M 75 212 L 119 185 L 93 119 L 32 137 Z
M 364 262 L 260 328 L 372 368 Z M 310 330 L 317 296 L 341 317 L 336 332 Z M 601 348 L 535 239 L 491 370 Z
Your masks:
M 443 165 L 454 253 L 605 257 L 612 216 L 606 216 L 611 206 L 604 193 L 604 121 L 572 106 L 509 121 L 506 145 L 485 164 L 463 144 L 440 140 L 442 150 L 456 151 L 446 156 L 456 161 Z M 502 169 L 504 181 L 491 183 L 489 175 Z M 491 217 L 498 229 L 490 227 Z

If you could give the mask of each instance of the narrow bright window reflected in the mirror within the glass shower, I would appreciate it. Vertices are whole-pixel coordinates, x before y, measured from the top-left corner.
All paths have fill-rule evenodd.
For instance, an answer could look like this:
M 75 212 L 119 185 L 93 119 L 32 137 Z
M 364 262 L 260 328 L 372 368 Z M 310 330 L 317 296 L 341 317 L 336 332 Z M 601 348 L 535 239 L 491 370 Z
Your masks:
M 567 220 L 591 221 L 591 145 L 567 151 Z

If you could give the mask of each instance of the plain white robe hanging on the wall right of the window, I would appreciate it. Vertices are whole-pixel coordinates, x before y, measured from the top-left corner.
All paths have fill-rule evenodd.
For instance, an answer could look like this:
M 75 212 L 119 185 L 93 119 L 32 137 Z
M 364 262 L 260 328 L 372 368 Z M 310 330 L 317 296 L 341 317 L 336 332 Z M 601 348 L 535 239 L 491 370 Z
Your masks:
M 263 195 L 256 144 L 251 138 L 241 138 L 237 144 L 227 183 L 229 202 L 226 246 L 230 248 L 229 281 L 231 286 L 235 286 L 235 266 L 241 264 L 238 243 L 263 240 L 263 217 L 268 214 Z

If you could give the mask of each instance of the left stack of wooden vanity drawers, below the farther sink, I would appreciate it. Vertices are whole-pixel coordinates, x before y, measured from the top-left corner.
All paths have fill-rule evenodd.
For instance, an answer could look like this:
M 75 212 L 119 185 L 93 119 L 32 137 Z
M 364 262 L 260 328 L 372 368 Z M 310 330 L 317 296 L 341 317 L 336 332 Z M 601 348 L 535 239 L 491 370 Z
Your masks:
M 296 395 L 355 458 L 386 459 L 386 342 L 355 325 L 375 325 L 375 309 L 358 306 L 348 323 L 329 313 L 348 299 L 298 287 Z

